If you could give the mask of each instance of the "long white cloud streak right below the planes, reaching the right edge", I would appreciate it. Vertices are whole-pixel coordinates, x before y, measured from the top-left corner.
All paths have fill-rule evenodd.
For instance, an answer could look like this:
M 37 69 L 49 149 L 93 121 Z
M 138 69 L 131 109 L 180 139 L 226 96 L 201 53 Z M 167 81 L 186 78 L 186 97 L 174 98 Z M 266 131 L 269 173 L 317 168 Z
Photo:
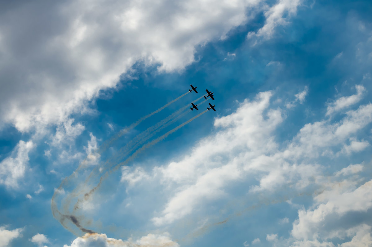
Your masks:
M 270 108 L 271 96 L 272 92 L 262 92 L 253 101 L 245 100 L 234 113 L 216 118 L 217 132 L 200 140 L 191 154 L 154 168 L 160 183 L 174 189 L 164 209 L 152 219 L 155 225 L 171 224 L 207 200 L 224 197 L 228 184 L 244 181 L 248 174 L 259 182 L 250 187 L 250 193 L 274 192 L 283 185 L 304 189 L 322 177 L 318 159 L 324 150 L 340 150 L 372 121 L 372 105 L 360 105 L 340 121 L 305 124 L 280 147 L 274 132 L 284 114 L 280 108 Z

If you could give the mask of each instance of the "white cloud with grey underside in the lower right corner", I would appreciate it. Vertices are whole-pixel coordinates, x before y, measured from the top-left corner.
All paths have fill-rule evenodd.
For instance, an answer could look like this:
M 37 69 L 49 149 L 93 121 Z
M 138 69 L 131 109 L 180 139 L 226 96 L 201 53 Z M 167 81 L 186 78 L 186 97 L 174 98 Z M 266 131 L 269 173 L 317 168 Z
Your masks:
M 330 188 L 314 197 L 315 209 L 301 209 L 298 219 L 293 223 L 291 234 L 302 240 L 318 238 L 344 238 L 352 235 L 355 222 L 345 222 L 343 216 L 348 213 L 366 213 L 372 207 L 372 180 L 356 186 L 356 181 L 344 180 L 330 184 Z M 333 222 L 329 227 L 330 222 Z M 339 222 L 338 227 L 334 222 Z M 360 224 L 363 222 L 357 222 Z M 342 227 L 341 227 L 342 226 Z

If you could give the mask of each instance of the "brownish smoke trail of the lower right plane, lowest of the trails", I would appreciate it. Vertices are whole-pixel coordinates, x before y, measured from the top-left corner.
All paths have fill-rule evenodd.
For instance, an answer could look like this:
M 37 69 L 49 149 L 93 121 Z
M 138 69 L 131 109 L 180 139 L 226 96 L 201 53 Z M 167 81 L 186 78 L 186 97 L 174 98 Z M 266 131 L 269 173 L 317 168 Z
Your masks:
M 175 127 L 174 129 L 170 130 L 169 132 L 167 132 L 167 133 L 163 134 L 162 136 L 160 136 L 160 137 L 152 140 L 151 142 L 147 143 L 146 145 L 143 145 L 140 149 L 137 149 L 137 151 L 135 151 L 131 156 L 129 156 L 128 159 L 126 159 L 125 161 L 123 161 L 123 162 L 119 163 L 118 165 L 116 165 L 116 167 L 114 167 L 112 170 L 106 171 L 106 173 L 104 175 L 102 175 L 102 177 L 100 177 L 100 180 L 99 180 L 99 183 L 97 184 L 97 186 L 95 186 L 93 189 L 91 189 L 88 193 L 85 193 L 84 194 L 84 199 L 85 200 L 89 199 L 89 197 L 94 193 L 94 191 L 96 191 L 101 186 L 102 182 L 110 174 L 112 174 L 113 172 L 115 172 L 116 170 L 118 170 L 119 167 L 122 167 L 123 165 L 128 164 L 129 161 L 132 161 L 142 151 L 144 151 L 147 148 L 150 148 L 151 146 L 155 145 L 156 143 L 160 142 L 161 140 L 164 140 L 171 133 L 174 133 L 176 130 L 180 129 L 181 127 L 185 126 L 186 124 L 190 123 L 191 121 L 195 120 L 196 118 L 200 117 L 202 114 L 206 113 L 207 111 L 208 110 L 205 110 L 205 111 L 199 113 L 195 117 L 190 118 L 186 122 L 180 124 L 179 126 Z M 80 205 L 81 202 L 82 202 L 82 200 L 81 199 L 78 199 L 77 203 L 74 205 L 74 210 L 80 208 L 79 205 Z

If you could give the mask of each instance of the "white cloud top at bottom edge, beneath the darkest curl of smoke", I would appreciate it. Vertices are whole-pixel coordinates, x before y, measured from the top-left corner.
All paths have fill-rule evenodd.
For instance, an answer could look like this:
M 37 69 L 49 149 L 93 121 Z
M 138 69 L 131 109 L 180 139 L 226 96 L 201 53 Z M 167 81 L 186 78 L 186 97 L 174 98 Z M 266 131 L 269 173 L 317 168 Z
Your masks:
M 148 234 L 137 241 L 129 238 L 126 241 L 115 238 L 108 238 L 106 234 L 85 234 L 83 237 L 76 238 L 70 246 L 64 247 L 179 247 L 179 244 L 170 239 L 166 232 L 160 234 Z

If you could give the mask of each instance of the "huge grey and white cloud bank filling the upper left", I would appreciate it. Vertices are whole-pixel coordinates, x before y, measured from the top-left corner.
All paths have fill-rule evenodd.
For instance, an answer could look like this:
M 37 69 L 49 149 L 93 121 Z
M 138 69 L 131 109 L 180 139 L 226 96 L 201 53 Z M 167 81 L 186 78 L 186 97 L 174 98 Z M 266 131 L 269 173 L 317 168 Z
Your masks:
M 198 45 L 244 24 L 246 12 L 262 7 L 261 1 L 36 0 L 6 6 L 0 17 L 1 119 L 22 132 L 68 123 L 71 113 L 89 111 L 87 102 L 115 87 L 138 61 L 164 72 L 182 70 L 195 60 Z M 275 13 L 267 15 L 269 23 Z

